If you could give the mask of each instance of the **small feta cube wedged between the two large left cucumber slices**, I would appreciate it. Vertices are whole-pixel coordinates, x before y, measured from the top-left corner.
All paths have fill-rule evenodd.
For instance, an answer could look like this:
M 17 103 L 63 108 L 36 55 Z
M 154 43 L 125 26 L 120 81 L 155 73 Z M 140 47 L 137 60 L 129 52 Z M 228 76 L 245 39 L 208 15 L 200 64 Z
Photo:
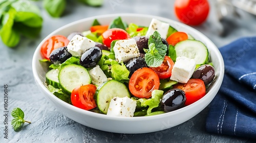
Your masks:
M 103 73 L 99 65 L 96 65 L 93 69 L 89 70 L 89 74 L 92 78 L 93 84 L 100 85 L 101 83 L 108 81 L 108 78 Z

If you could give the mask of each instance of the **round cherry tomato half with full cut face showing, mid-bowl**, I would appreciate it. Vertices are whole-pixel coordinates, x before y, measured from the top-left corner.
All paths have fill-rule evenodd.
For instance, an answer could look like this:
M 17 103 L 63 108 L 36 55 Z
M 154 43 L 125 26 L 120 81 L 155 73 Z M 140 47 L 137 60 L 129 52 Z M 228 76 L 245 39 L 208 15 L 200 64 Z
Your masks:
M 129 81 L 129 89 L 137 98 L 150 98 L 152 91 L 158 89 L 159 85 L 157 74 L 148 67 L 135 70 Z

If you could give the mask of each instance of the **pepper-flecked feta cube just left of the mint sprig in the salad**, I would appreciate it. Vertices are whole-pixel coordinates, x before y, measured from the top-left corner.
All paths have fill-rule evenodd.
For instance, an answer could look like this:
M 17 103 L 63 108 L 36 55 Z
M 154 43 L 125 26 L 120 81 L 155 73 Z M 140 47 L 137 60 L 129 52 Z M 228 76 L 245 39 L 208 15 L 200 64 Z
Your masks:
M 127 62 L 132 58 L 140 56 L 140 52 L 135 39 L 118 40 L 116 41 L 113 50 L 119 63 L 121 61 Z

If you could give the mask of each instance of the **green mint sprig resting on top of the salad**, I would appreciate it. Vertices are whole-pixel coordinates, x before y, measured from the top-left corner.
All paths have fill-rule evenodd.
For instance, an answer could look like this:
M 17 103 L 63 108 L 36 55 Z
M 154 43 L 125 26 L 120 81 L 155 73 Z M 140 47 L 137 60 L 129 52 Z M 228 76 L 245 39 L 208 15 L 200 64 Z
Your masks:
M 148 39 L 148 50 L 144 50 L 147 66 L 158 67 L 166 55 L 167 46 L 163 44 L 161 35 L 155 31 Z

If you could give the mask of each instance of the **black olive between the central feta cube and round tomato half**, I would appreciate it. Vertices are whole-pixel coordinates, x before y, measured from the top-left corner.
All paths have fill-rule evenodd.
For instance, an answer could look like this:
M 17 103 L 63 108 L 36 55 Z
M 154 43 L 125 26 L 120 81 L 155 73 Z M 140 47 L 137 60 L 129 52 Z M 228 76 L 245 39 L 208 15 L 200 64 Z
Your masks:
M 146 61 L 144 58 L 137 57 L 129 60 L 126 64 L 126 68 L 130 71 L 129 78 L 133 75 L 135 70 L 141 67 L 146 67 Z

